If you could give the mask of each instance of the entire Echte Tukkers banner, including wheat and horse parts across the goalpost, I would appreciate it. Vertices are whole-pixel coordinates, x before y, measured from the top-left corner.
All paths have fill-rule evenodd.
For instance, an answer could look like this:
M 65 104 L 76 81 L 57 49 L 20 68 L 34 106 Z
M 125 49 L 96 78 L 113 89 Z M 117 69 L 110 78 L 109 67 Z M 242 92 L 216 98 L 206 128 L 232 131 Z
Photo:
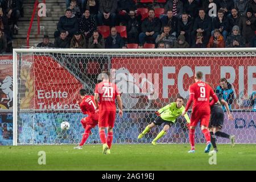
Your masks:
M 7 58 L 9 60 L 6 60 Z M 67 69 L 50 56 L 24 56 L 21 59 L 20 87 L 18 90 L 20 109 L 79 109 L 76 101 L 80 99 L 79 90 L 82 88 L 82 84 Z M 8 107 L 7 94 L 12 100 L 13 56 L 1 56 L 0 63 L 0 106 L 1 109 L 11 109 Z M 9 77 L 11 81 L 7 80 Z M 5 80 L 11 82 L 11 84 L 9 83 L 11 85 L 9 92 L 5 92 L 3 89 Z M 3 101 L 2 98 L 4 98 Z

